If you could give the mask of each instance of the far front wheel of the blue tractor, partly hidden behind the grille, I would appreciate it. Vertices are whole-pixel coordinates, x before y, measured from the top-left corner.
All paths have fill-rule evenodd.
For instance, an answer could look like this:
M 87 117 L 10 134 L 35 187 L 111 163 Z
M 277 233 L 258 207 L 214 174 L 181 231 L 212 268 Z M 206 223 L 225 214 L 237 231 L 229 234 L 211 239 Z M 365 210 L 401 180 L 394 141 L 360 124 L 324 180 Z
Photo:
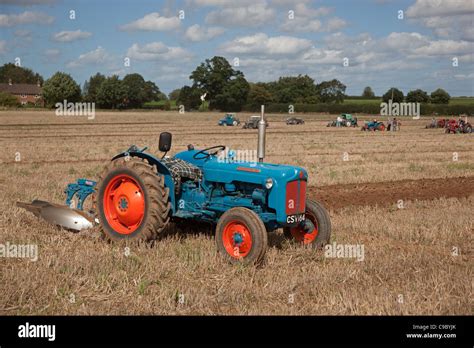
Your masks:
M 295 240 L 303 245 L 310 245 L 313 248 L 321 248 L 331 237 L 331 218 L 324 206 L 310 199 L 306 200 L 306 219 L 309 219 L 314 229 L 306 232 L 301 226 L 285 227 L 283 233 L 285 237 Z

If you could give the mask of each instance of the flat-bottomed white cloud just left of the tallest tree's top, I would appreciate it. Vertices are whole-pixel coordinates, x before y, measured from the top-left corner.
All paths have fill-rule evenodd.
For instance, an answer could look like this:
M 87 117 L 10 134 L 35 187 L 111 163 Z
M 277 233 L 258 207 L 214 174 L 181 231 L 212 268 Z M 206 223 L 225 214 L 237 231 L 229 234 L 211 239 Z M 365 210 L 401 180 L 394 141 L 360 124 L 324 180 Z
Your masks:
M 193 55 L 182 47 L 168 47 L 162 42 L 151 42 L 143 46 L 134 43 L 127 50 L 127 56 L 137 60 L 185 61 Z

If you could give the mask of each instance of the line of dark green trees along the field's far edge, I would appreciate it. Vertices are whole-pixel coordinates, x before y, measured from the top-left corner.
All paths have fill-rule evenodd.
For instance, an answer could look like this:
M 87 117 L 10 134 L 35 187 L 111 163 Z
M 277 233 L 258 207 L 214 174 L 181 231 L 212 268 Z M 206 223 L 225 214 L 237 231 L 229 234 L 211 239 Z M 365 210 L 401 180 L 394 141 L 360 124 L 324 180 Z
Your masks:
M 244 74 L 234 69 L 224 57 L 206 59 L 189 76 L 192 84 L 172 91 L 168 96 L 162 93 L 152 81 L 146 81 L 138 73 L 105 76 L 97 73 L 84 82 L 81 88 L 67 73 L 56 72 L 46 81 L 31 69 L 7 63 L 0 67 L 0 82 L 12 79 L 15 83 L 41 83 L 43 99 L 48 107 L 57 102 L 94 102 L 104 109 L 141 108 L 148 102 L 170 100 L 183 105 L 186 110 L 197 110 L 206 104 L 211 110 L 240 111 L 262 104 L 340 104 L 347 97 L 346 86 L 337 79 L 316 83 L 308 75 L 280 77 L 277 81 L 250 83 Z M 362 98 L 377 98 L 371 87 L 365 87 Z M 8 97 L 0 96 L 0 105 Z M 14 98 L 13 98 L 14 99 Z M 450 95 L 437 89 L 430 95 L 416 89 L 407 93 L 395 87 L 390 88 L 382 100 L 388 102 L 420 102 L 447 104 Z M 11 100 L 10 102 L 15 102 Z

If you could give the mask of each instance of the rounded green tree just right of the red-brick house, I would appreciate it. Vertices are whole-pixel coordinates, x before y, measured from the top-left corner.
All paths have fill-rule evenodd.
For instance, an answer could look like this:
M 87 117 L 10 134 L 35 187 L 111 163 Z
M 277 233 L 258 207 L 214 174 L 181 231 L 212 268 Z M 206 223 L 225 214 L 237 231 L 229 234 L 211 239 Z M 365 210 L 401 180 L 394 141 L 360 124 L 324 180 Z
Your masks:
M 57 72 L 44 83 L 43 98 L 49 107 L 64 100 L 74 103 L 81 99 L 81 87 L 69 74 Z

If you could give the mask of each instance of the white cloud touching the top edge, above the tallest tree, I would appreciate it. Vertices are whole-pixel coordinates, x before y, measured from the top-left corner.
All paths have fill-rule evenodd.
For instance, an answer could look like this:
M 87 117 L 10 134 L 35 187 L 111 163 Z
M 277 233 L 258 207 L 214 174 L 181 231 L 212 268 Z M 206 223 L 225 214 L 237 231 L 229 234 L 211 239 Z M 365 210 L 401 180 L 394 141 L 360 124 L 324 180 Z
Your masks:
M 211 11 L 206 16 L 206 23 L 221 26 L 247 26 L 257 27 L 275 18 L 276 11 L 267 6 L 266 2 L 252 3 L 239 7 L 225 7 Z

